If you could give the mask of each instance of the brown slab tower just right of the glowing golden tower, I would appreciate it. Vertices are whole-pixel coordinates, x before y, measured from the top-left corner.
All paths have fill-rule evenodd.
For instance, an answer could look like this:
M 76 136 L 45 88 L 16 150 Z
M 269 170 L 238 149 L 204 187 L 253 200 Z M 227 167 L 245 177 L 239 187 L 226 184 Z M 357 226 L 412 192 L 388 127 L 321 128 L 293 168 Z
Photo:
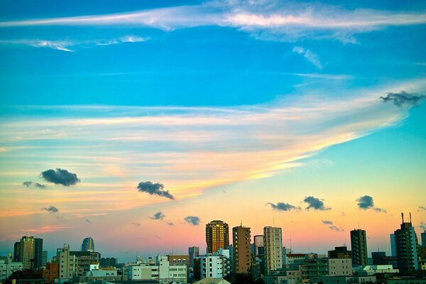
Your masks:
M 234 249 L 234 273 L 249 273 L 251 266 L 250 228 L 235 226 L 232 228 Z

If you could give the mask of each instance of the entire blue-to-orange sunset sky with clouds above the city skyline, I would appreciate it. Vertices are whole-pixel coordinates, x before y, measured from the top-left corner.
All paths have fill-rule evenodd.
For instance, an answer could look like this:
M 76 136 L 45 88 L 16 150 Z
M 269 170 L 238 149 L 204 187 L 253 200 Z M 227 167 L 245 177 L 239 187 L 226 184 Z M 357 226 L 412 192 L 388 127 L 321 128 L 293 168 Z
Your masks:
M 0 255 L 426 230 L 425 1 L 0 1 Z

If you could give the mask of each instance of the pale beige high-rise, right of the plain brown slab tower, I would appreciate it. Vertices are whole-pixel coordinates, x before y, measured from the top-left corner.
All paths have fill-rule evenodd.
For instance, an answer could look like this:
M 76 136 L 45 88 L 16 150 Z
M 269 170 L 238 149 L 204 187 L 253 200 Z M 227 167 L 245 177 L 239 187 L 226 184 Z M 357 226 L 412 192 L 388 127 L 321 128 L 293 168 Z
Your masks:
M 281 228 L 266 226 L 263 228 L 263 248 L 265 273 L 283 266 L 283 232 Z

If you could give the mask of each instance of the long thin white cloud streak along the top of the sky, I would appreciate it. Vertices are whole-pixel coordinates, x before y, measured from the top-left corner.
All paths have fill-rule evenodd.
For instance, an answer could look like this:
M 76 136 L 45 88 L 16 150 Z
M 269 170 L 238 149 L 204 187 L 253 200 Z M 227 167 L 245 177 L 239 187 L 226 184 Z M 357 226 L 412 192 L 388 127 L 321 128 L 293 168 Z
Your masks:
M 261 39 L 337 38 L 353 43 L 355 33 L 424 23 L 426 15 L 422 11 L 344 9 L 330 4 L 287 1 L 207 1 L 128 13 L 4 21 L 0 27 L 146 26 L 172 31 L 195 26 L 225 26 Z

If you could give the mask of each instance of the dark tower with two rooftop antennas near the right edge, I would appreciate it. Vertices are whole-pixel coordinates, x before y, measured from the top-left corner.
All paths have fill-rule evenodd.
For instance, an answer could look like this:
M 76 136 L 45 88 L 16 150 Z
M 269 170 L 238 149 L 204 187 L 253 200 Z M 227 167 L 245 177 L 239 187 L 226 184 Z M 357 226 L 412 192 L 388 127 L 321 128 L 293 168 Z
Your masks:
M 419 269 L 419 258 L 417 253 L 417 235 L 410 222 L 404 222 L 404 214 L 401 213 L 403 222 L 395 234 L 395 250 L 398 259 L 400 273 L 411 273 Z

